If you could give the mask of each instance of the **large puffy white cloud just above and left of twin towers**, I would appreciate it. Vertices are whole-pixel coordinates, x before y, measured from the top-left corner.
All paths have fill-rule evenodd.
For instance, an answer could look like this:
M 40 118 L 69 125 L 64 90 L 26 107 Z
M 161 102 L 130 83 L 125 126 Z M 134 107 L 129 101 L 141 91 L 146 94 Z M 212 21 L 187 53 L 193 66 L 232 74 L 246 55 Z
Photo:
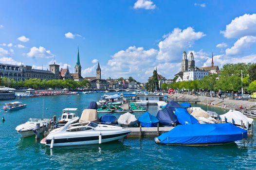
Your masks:
M 202 32 L 195 32 L 191 27 L 184 30 L 175 28 L 171 33 L 164 35 L 165 38 L 158 45 L 157 59 L 166 62 L 178 62 L 184 50 L 191 48 L 195 40 L 205 36 Z

